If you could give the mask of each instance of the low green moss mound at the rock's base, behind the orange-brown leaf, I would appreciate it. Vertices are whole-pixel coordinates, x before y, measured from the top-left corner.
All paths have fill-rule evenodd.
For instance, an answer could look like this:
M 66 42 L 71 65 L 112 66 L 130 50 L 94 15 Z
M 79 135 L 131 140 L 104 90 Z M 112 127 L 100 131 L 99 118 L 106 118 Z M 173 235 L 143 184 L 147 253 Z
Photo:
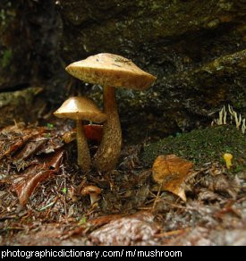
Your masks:
M 223 154 L 233 154 L 233 162 L 245 166 L 245 136 L 234 126 L 224 125 L 194 130 L 168 137 L 144 147 L 142 159 L 149 166 L 158 155 L 175 154 L 200 165 L 208 162 L 224 164 Z M 235 169 L 239 166 L 235 165 Z

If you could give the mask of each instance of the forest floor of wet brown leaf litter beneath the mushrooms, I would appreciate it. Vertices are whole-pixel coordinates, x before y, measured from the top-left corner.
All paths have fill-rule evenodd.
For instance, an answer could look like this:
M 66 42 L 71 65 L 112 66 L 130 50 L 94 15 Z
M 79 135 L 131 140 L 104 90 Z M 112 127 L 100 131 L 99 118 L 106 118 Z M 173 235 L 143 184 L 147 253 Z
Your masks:
M 246 245 L 245 144 L 230 170 L 196 148 L 207 160 L 192 162 L 185 202 L 153 181 L 148 144 L 124 146 L 114 171 L 82 173 L 72 135 L 51 123 L 0 130 L 1 245 Z M 89 185 L 101 189 L 93 204 Z

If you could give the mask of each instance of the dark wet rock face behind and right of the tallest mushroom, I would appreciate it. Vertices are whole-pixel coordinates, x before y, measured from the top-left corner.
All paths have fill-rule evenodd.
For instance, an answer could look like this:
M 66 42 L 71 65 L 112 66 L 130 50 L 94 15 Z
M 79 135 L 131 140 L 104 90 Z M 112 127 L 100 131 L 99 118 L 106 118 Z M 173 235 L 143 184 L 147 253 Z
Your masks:
M 64 59 L 112 52 L 157 76 L 146 92 L 118 91 L 127 139 L 191 131 L 227 103 L 245 114 L 242 2 L 60 1 Z

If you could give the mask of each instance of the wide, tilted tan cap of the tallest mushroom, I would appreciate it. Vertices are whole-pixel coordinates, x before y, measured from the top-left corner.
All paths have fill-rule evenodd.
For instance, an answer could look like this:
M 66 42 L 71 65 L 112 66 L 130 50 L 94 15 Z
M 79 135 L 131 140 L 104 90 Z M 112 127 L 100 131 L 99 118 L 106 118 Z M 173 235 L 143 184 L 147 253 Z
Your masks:
M 155 76 L 142 71 L 131 60 L 106 53 L 71 63 L 66 71 L 89 83 L 136 90 L 146 89 L 156 80 Z

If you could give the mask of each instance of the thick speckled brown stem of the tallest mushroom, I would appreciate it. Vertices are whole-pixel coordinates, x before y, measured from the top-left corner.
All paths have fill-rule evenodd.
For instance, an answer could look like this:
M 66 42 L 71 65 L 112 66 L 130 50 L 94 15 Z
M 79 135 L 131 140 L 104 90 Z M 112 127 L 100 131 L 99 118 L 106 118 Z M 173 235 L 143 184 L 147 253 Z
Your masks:
M 106 172 L 115 168 L 122 148 L 122 129 L 115 101 L 115 87 L 104 87 L 103 138 L 94 156 L 98 171 Z

